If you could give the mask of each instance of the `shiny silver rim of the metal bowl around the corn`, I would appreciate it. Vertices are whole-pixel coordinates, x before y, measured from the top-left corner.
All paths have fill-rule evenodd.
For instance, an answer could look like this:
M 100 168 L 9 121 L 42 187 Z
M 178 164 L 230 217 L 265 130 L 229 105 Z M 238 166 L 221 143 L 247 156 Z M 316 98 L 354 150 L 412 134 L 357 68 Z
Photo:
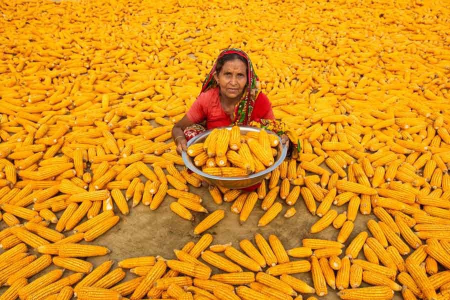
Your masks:
M 231 126 L 223 126 L 223 127 L 217 127 L 217 128 L 231 129 Z M 254 131 L 254 129 L 265 130 L 265 131 L 267 131 L 267 133 L 269 133 L 269 134 L 276 135 L 273 131 L 270 131 L 270 130 L 267 130 L 267 129 L 264 129 L 264 128 L 257 128 L 257 127 L 246 126 L 246 125 L 239 125 L 239 128 L 248 128 L 248 129 L 251 129 L 250 131 Z M 203 132 L 201 132 L 201 133 L 195 135 L 194 137 L 192 137 L 191 139 L 189 139 L 189 140 L 187 141 L 187 147 L 190 146 L 191 144 L 195 143 L 195 141 L 196 141 L 197 139 L 199 139 L 200 137 L 203 137 L 204 135 L 209 134 L 209 132 L 211 132 L 211 131 L 212 131 L 212 129 L 208 129 L 208 130 L 205 130 L 205 131 L 203 131 Z M 286 154 L 287 154 L 287 146 L 281 142 L 281 138 L 280 138 L 278 135 L 276 135 L 276 137 L 278 137 L 278 142 L 279 142 L 279 144 L 281 145 L 281 149 L 282 149 L 282 150 L 281 150 L 281 153 L 280 153 L 280 155 L 279 155 L 279 157 L 278 157 L 278 159 L 277 159 L 272 165 L 270 165 L 268 168 L 266 168 L 266 169 L 264 169 L 264 170 L 262 170 L 262 171 L 259 171 L 259 172 L 257 172 L 257 173 L 253 173 L 253 174 L 247 175 L 247 176 L 239 176 L 239 177 L 222 177 L 222 176 L 210 175 L 210 174 L 208 174 L 208 173 L 203 172 L 203 171 L 200 170 L 199 168 L 197 168 L 197 167 L 191 162 L 191 160 L 189 159 L 189 157 L 188 157 L 186 151 L 182 151 L 182 152 L 181 152 L 181 157 L 182 157 L 182 159 L 183 159 L 183 161 L 184 161 L 184 164 L 186 165 L 187 168 L 189 168 L 191 171 L 193 171 L 193 172 L 199 174 L 200 176 L 206 177 L 206 178 L 208 178 L 208 179 L 225 180 L 225 181 L 238 181 L 238 180 L 244 180 L 244 179 L 252 179 L 252 178 L 259 177 L 259 176 L 261 176 L 261 175 L 265 175 L 265 174 L 267 174 L 268 172 L 271 172 L 271 171 L 274 170 L 278 165 L 280 165 L 281 162 L 283 162 L 284 158 L 286 158 Z

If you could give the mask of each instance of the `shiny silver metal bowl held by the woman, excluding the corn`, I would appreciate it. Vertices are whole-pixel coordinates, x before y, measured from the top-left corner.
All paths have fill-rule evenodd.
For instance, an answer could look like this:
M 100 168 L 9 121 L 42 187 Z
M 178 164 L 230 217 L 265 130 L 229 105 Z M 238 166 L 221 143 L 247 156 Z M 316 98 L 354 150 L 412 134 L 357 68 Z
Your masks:
M 223 127 L 223 128 L 231 130 L 230 126 Z M 250 126 L 239 126 L 239 128 L 240 128 L 241 134 L 246 134 L 247 132 L 250 132 L 250 131 L 259 132 L 259 130 L 265 130 L 265 129 L 255 128 L 255 127 L 250 127 Z M 211 131 L 212 130 L 206 130 L 206 131 L 192 137 L 187 142 L 187 146 L 190 146 L 191 144 L 194 144 L 194 143 L 203 142 L 206 139 L 206 136 Z M 269 134 L 274 134 L 272 131 L 269 131 L 269 130 L 266 130 L 266 131 Z M 261 182 L 262 179 L 264 179 L 265 175 L 267 173 L 271 172 L 273 169 L 275 169 L 286 157 L 287 146 L 283 145 L 281 143 L 281 138 L 279 136 L 276 135 L 276 137 L 278 138 L 279 143 L 276 146 L 276 156 L 275 156 L 274 163 L 263 171 L 253 173 L 253 174 L 250 174 L 245 177 L 221 177 L 221 176 L 210 175 L 205 172 L 202 172 L 201 169 L 197 168 L 193 164 L 193 157 L 190 157 L 189 155 L 187 155 L 186 152 L 183 151 L 181 153 L 181 156 L 183 158 L 184 164 L 191 171 L 200 175 L 209 184 L 220 185 L 220 186 L 227 187 L 227 188 L 244 188 L 244 187 L 248 187 L 248 186 L 251 186 L 256 183 Z

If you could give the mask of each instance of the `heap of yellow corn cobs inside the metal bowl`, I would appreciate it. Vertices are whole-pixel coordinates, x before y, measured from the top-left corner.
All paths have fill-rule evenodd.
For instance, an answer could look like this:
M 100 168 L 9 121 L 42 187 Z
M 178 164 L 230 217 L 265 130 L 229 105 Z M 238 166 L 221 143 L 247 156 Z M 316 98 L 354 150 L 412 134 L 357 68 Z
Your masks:
M 241 135 L 239 126 L 235 125 L 230 130 L 214 128 L 204 142 L 191 144 L 187 154 L 194 156 L 195 166 L 205 173 L 238 177 L 272 165 L 277 154 L 272 147 L 278 143 L 278 137 L 266 130 Z

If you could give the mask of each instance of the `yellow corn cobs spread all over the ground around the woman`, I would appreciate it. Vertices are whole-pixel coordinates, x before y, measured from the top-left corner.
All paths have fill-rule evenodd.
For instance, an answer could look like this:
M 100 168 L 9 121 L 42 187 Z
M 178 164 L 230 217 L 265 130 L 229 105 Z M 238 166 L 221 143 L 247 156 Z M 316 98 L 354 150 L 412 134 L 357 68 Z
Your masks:
M 450 299 L 448 7 L 1 1 L 0 300 Z M 249 193 L 201 187 L 170 133 L 227 47 L 249 54 L 301 146 Z M 169 205 L 198 238 L 174 259 L 88 261 L 114 251 L 96 239 L 138 205 Z M 310 234 L 289 249 L 275 226 L 213 240 L 225 215 L 258 210 L 254 232 L 307 218 Z M 373 218 L 355 226 L 361 215 Z

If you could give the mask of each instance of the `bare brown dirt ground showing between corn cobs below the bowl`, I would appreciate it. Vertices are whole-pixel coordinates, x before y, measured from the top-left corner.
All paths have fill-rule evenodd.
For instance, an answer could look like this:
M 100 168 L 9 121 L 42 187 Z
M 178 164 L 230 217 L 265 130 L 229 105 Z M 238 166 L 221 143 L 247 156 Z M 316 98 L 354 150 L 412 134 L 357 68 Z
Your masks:
M 338 233 L 337 229 L 329 226 L 322 232 L 310 234 L 309 228 L 318 217 L 312 216 L 306 210 L 301 196 L 294 205 L 297 210 L 294 216 L 289 219 L 282 216 L 289 207 L 283 204 L 283 210 L 272 222 L 264 227 L 257 227 L 257 221 L 264 213 L 260 208 L 260 201 L 255 205 L 255 208 L 247 221 L 244 224 L 240 224 L 239 216 L 230 211 L 230 203 L 223 203 L 219 206 L 212 201 L 207 188 L 189 187 L 190 191 L 201 196 L 203 199 L 202 204 L 209 212 L 218 208 L 225 210 L 224 219 L 206 231 L 214 236 L 213 244 L 231 242 L 233 246 L 239 249 L 239 240 L 247 238 L 254 242 L 254 234 L 261 233 L 266 238 L 269 234 L 277 235 L 284 247 L 289 249 L 300 246 L 302 238 L 314 237 L 335 240 Z M 192 222 L 181 219 L 169 209 L 170 202 L 174 200 L 176 199 L 167 195 L 161 206 L 155 211 L 150 210 L 147 206 L 142 204 L 130 208 L 130 214 L 127 216 L 123 216 L 120 212 L 116 211 L 116 213 L 120 215 L 120 222 L 108 232 L 90 242 L 91 244 L 107 246 L 111 250 L 111 253 L 106 256 L 91 257 L 87 260 L 92 262 L 94 266 L 97 266 L 107 259 L 119 261 L 127 257 L 142 255 L 161 255 L 164 258 L 174 258 L 175 255 L 173 254 L 173 249 L 180 249 L 190 240 L 198 240 L 199 236 L 193 234 L 193 228 L 205 217 L 204 213 L 196 212 L 194 214 L 195 219 Z M 284 203 L 281 199 L 278 198 L 278 200 Z M 346 205 L 341 207 L 333 206 L 338 212 L 345 210 L 345 207 Z M 346 244 L 348 244 L 358 232 L 367 230 L 365 224 L 369 218 L 375 218 L 375 216 L 373 214 L 369 216 L 363 216 L 361 214 L 357 215 L 355 227 Z M 362 257 L 362 251 L 360 255 Z M 115 267 L 117 267 L 116 264 L 114 264 L 112 268 Z M 52 268 L 54 268 L 54 265 L 47 268 L 45 272 Z M 68 274 L 69 272 L 70 271 L 67 271 L 65 274 Z M 213 272 L 218 271 L 213 269 Z M 38 275 L 41 274 L 42 272 Z M 127 276 L 124 280 L 131 279 L 134 276 L 134 274 L 127 272 Z M 297 274 L 295 276 L 305 280 L 312 286 L 310 273 Z M 0 288 L 0 294 L 4 290 L 4 287 Z M 307 296 L 308 295 L 305 294 L 303 295 L 303 298 L 306 299 Z M 334 300 L 339 299 L 339 297 L 337 296 L 336 291 L 328 288 L 328 295 L 320 297 L 320 299 Z M 401 299 L 401 296 L 396 294 L 394 299 Z

